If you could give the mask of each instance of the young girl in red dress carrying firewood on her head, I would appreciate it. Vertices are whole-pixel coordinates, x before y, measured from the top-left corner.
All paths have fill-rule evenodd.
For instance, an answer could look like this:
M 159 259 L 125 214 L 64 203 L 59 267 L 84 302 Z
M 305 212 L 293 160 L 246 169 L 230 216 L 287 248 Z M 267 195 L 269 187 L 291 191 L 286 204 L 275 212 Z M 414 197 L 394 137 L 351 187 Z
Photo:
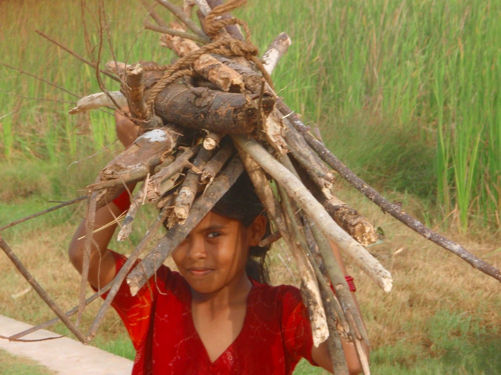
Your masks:
M 135 126 L 116 114 L 125 146 Z M 129 203 L 130 204 L 130 203 Z M 127 209 L 128 195 L 96 211 L 96 227 Z M 179 273 L 161 266 L 135 296 L 124 282 L 112 305 L 137 350 L 133 374 L 290 374 L 306 358 L 332 371 L 326 342 L 315 347 L 300 291 L 270 286 L 258 244 L 269 224 L 243 173 L 172 252 Z M 109 283 L 126 257 L 109 250 L 116 224 L 93 235 L 89 282 Z M 82 271 L 85 219 L 69 248 Z M 333 251 L 341 261 L 337 248 Z M 253 257 L 258 257 L 256 261 Z M 342 263 L 341 263 L 342 264 Z M 359 373 L 354 346 L 342 342 L 350 373 Z

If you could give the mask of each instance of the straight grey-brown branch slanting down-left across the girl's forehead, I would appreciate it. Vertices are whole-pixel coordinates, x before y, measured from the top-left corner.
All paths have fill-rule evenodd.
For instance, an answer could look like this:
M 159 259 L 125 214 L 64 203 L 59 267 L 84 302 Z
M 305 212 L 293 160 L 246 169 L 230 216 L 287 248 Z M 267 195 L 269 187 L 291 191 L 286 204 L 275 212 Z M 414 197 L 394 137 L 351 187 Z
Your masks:
M 243 166 L 238 157 L 233 158 L 224 171 L 210 184 L 204 194 L 193 203 L 184 224 L 176 223 L 158 241 L 155 248 L 130 272 L 127 277 L 132 295 L 156 272 L 171 251 L 186 237 L 200 220 L 212 209 L 241 174 Z

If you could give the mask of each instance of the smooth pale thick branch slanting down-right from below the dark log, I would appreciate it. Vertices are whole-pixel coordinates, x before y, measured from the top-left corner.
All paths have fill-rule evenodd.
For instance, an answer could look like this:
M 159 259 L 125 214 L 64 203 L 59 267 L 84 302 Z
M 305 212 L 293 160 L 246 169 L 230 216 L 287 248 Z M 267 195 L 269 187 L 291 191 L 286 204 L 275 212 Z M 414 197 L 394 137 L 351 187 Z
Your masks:
M 339 227 L 325 208 L 313 197 L 302 182 L 285 166 L 279 163 L 254 139 L 233 135 L 233 140 L 248 152 L 259 164 L 287 189 L 299 206 L 322 229 L 322 232 L 336 242 L 352 260 L 362 268 L 386 292 L 391 290 L 391 274 L 362 245 Z

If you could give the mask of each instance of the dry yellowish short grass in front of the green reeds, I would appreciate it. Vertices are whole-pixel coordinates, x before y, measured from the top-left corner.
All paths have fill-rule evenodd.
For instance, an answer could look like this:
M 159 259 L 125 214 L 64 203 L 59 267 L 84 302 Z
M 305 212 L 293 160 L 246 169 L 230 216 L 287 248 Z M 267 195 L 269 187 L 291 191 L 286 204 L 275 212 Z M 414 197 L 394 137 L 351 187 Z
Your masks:
M 457 256 L 424 240 L 383 214 L 371 202 L 362 200 L 358 193 L 343 188 L 339 195 L 347 201 L 356 200 L 359 211 L 373 218 L 387 236 L 381 244 L 370 250 L 393 274 L 394 286 L 390 294 L 385 294 L 347 261 L 349 271 L 359 288 L 357 296 L 375 352 L 379 348 L 401 347 L 403 351 L 395 360 L 401 365 L 412 365 L 423 358 L 440 358 L 445 355 L 448 350 L 440 341 L 444 336 L 457 336 L 466 341 L 489 337 L 494 339 L 501 324 L 501 299 L 497 281 L 472 269 Z M 403 201 L 404 207 L 411 214 L 419 214 L 422 209 L 421 203 L 408 196 L 393 198 Z M 69 222 L 44 230 L 28 228 L 22 237 L 15 236 L 12 243 L 23 263 L 65 309 L 70 309 L 77 303 L 79 275 L 68 261 L 66 247 L 81 213 L 81 208 L 78 208 Z M 3 234 L 9 242 L 9 233 Z M 496 251 L 498 236 L 489 233 L 447 234 L 478 256 L 487 257 L 495 266 L 501 266 L 501 253 Z M 132 245 L 116 247 L 112 244 L 112 247 L 127 253 Z M 297 282 L 298 276 L 290 265 L 292 263 L 288 252 L 276 246 L 271 253 L 274 283 Z M 53 317 L 50 309 L 33 290 L 16 296 L 27 288 L 27 283 L 7 257 L 0 257 L 0 268 L 3 270 L 0 313 L 30 323 L 39 323 Z M 89 289 L 89 294 L 90 292 Z M 96 314 L 98 304 L 88 307 L 84 326 Z M 454 319 L 457 322 L 454 323 Z M 466 328 L 463 323 L 467 324 Z M 62 325 L 56 325 L 52 329 L 67 333 Z M 118 349 L 110 342 L 124 340 L 126 333 L 119 318 L 114 312 L 110 312 L 99 331 L 97 344 L 115 351 Z

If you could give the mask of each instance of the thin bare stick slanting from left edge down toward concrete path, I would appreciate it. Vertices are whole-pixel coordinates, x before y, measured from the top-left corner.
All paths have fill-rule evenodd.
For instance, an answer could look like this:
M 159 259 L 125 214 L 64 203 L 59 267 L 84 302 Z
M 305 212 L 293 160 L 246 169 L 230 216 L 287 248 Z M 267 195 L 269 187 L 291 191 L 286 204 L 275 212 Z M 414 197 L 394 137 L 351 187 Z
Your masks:
M 4 240 L 4 237 L 0 234 L 0 247 L 5 251 L 9 259 L 14 263 L 14 265 L 18 268 L 21 274 L 26 278 L 26 280 L 30 283 L 31 286 L 35 289 L 35 291 L 40 295 L 40 297 L 44 300 L 44 302 L 49 306 L 49 308 L 54 311 L 54 313 L 61 319 L 61 321 L 68 327 L 68 329 L 83 343 L 86 342 L 85 336 L 83 333 L 73 324 L 73 322 L 68 319 L 66 314 L 61 308 L 54 302 L 54 300 L 49 297 L 49 295 L 45 292 L 44 288 L 40 286 L 40 284 L 35 280 L 33 275 L 26 269 L 21 260 L 16 256 L 14 251 L 9 247 L 7 242 Z

